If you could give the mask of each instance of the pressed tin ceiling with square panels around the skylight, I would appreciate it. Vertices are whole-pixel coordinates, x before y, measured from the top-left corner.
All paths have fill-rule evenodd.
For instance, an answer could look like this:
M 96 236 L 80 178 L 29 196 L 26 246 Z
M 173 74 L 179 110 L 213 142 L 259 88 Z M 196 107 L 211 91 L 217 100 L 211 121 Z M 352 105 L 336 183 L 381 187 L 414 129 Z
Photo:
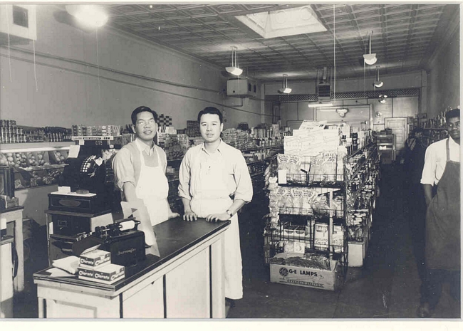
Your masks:
M 326 31 L 263 38 L 235 16 L 310 6 Z M 338 78 L 363 77 L 362 55 L 378 62 L 381 75 L 424 67 L 457 4 L 108 4 L 108 25 L 207 61 L 229 65 L 231 46 L 238 48 L 243 75 L 259 80 L 313 79 L 317 68 L 336 63 Z M 333 52 L 335 33 L 335 56 Z

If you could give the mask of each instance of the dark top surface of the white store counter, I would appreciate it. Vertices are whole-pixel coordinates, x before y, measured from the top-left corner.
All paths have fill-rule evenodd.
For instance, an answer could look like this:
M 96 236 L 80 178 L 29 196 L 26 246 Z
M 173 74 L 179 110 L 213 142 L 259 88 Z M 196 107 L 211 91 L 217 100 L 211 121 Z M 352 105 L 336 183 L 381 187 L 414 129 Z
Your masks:
M 47 272 L 49 268 L 34 273 L 33 278 L 34 280 L 49 280 L 56 283 L 67 283 L 100 290 L 117 291 L 133 280 L 140 278 L 142 275 L 149 273 L 163 263 L 175 258 L 182 252 L 187 251 L 187 249 L 200 243 L 209 236 L 212 236 L 212 234 L 217 231 L 227 228 L 229 224 L 230 221 L 221 221 L 217 223 L 207 222 L 205 219 L 184 221 L 182 217 L 177 217 L 153 226 L 156 233 L 160 257 L 147 254 L 146 259 L 144 261 L 139 261 L 136 266 L 126 267 L 125 278 L 113 284 L 80 280 L 77 275 L 71 277 L 51 277 L 50 273 Z

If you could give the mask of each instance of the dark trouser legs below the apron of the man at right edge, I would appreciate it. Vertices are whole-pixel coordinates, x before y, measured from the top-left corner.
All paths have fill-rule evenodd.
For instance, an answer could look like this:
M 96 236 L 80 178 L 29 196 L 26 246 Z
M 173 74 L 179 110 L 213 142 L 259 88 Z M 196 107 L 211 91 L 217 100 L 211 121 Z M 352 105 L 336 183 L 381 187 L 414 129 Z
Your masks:
M 426 268 L 425 278 L 421 284 L 420 303 L 429 303 L 431 309 L 436 308 L 442 294 L 442 284 L 450 283 L 450 294 L 460 303 L 460 271 Z

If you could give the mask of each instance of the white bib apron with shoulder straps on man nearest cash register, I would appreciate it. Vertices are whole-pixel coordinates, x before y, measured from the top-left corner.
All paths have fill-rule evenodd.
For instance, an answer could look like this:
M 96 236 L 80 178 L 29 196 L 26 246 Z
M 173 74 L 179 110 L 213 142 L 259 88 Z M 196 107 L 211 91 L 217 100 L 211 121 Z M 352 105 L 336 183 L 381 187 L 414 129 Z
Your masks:
M 152 226 L 167 221 L 169 217 L 169 203 L 167 202 L 169 183 L 162 170 L 161 159 L 157 151 L 156 154 L 158 165 L 153 168 L 145 165 L 145 158 L 140 152 L 140 178 L 135 187 L 135 194 L 138 199 L 143 200 Z

